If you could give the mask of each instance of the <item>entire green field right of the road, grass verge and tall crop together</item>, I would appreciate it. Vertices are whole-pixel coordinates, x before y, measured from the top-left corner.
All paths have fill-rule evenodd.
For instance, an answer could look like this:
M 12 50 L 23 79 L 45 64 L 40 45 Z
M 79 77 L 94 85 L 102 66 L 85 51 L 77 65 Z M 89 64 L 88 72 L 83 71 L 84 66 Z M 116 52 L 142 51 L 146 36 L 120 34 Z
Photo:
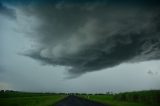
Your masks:
M 115 95 L 81 95 L 110 106 L 160 106 L 160 91 L 127 92 Z

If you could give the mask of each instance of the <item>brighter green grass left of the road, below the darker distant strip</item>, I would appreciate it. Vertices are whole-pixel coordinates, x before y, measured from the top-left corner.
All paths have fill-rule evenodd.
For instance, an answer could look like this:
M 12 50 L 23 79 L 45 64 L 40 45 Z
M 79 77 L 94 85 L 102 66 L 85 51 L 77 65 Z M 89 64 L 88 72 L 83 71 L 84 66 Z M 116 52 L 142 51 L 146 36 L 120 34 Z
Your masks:
M 0 106 L 54 106 L 64 95 L 0 98 Z

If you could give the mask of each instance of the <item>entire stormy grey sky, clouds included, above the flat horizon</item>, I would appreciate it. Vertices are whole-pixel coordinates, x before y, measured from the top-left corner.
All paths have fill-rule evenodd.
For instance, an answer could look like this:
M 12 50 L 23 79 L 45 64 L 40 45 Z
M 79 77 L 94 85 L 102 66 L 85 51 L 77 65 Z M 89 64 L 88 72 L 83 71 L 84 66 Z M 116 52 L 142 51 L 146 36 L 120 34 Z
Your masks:
M 1 0 L 0 90 L 160 89 L 158 0 Z

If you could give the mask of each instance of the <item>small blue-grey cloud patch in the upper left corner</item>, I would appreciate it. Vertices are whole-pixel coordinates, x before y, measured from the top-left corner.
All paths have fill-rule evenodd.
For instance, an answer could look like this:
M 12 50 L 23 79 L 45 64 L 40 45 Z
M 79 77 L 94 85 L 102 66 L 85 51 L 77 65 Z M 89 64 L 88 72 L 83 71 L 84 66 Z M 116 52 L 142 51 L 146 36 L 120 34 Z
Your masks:
M 6 7 L 3 3 L 0 1 L 0 14 L 5 15 L 9 18 L 15 18 L 15 11 L 11 8 Z

